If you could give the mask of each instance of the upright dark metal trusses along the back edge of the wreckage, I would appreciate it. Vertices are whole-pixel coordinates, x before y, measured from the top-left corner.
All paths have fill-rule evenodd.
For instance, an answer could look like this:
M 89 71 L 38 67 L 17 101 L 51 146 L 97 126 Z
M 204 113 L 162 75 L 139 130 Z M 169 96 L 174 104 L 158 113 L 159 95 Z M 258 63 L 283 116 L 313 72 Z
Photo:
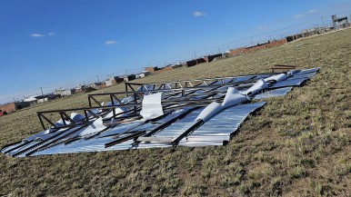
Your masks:
M 257 80 L 275 74 L 279 73 L 263 73 L 256 75 L 247 74 L 233 77 L 216 77 L 151 84 L 125 83 L 125 92 L 88 94 L 87 98 L 89 107 L 37 112 L 37 115 L 43 129 L 46 129 L 45 122 L 49 123 L 49 125 L 53 126 L 54 128 L 65 128 L 82 124 L 88 125 L 91 123 L 91 119 L 97 118 L 99 115 L 105 115 L 106 113 L 110 112 L 113 113 L 113 116 L 111 118 L 117 118 L 118 120 L 126 119 L 134 117 L 138 114 L 138 112 L 141 110 L 142 99 L 144 98 L 145 94 L 163 92 L 165 94 L 165 100 L 162 103 L 165 104 L 166 107 L 181 103 L 184 104 L 180 105 L 179 107 L 184 107 L 185 105 L 199 106 L 207 103 L 212 103 L 214 101 L 219 101 L 218 99 L 208 99 L 208 97 L 218 93 L 226 92 L 226 90 L 218 91 L 218 89 L 221 87 L 233 86 L 236 87 L 236 89 L 238 90 L 245 89 L 252 86 L 252 84 L 256 83 Z M 236 79 L 240 79 L 242 77 L 246 77 L 247 79 L 236 82 Z M 148 90 L 147 87 L 150 86 L 152 88 L 151 90 Z M 128 87 L 133 91 L 128 92 Z M 192 98 L 199 96 L 199 94 L 196 94 L 196 91 L 202 91 L 201 95 L 205 96 L 206 99 L 196 99 L 195 101 L 192 101 Z M 127 103 L 123 103 L 119 97 L 124 95 L 129 96 L 133 99 L 131 101 L 128 101 Z M 103 106 L 98 101 L 97 97 L 108 97 L 109 102 L 112 104 L 110 106 Z M 128 110 L 123 113 L 115 113 L 114 109 L 116 107 L 127 107 Z M 99 110 L 100 113 L 95 113 L 95 110 Z M 85 114 L 85 118 L 78 122 L 75 122 L 70 118 L 67 112 L 77 111 L 83 111 L 83 113 Z M 45 116 L 45 114 L 47 113 L 59 113 L 61 119 L 69 121 L 70 124 L 66 125 L 65 121 L 63 121 L 63 123 L 65 124 L 64 126 L 56 126 L 52 120 Z M 118 116 L 123 115 L 125 113 L 129 113 L 129 115 L 118 118 Z M 91 115 L 89 116 L 89 114 Z

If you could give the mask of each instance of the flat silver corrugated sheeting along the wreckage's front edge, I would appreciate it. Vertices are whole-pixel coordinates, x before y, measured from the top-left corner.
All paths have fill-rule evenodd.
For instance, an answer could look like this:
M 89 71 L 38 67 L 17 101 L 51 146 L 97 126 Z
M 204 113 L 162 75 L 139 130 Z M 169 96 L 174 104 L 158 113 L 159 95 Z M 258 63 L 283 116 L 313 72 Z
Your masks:
M 234 107 L 227 108 L 221 113 L 218 113 L 210 121 L 201 125 L 193 133 L 190 133 L 184 140 L 182 140 L 179 145 L 184 146 L 206 146 L 206 145 L 223 145 L 224 141 L 229 141 L 230 134 L 236 132 L 240 123 L 243 123 L 246 116 L 252 113 L 256 109 L 262 107 L 265 102 L 259 103 L 247 103 L 240 104 Z M 155 137 L 178 137 L 184 130 L 188 129 L 194 124 L 194 120 L 198 113 L 201 112 L 203 108 L 199 108 L 192 113 L 186 115 L 185 118 L 179 120 L 177 123 L 173 123 L 165 130 L 156 133 Z M 185 113 L 185 112 L 179 112 Z M 156 123 L 148 123 L 148 125 L 142 125 L 140 127 L 135 127 L 135 130 L 150 129 L 154 128 L 156 124 L 165 123 L 166 120 Z M 136 123 L 135 123 L 136 124 Z M 106 132 L 105 136 L 111 133 L 122 133 L 128 128 L 133 127 L 133 124 L 125 124 L 118 129 L 111 129 L 111 131 Z M 113 151 L 113 150 L 127 150 L 127 149 L 141 149 L 141 148 L 160 148 L 160 147 L 171 147 L 171 143 L 139 143 L 133 146 L 133 140 L 126 141 L 125 143 L 118 143 L 115 146 L 105 148 L 105 143 L 109 143 L 112 137 L 99 137 L 79 140 L 74 143 L 69 144 L 59 144 L 52 148 L 46 149 L 34 153 L 35 155 L 43 154 L 56 154 L 56 153 L 83 153 L 83 152 L 101 152 L 101 151 Z M 212 140 L 211 140 L 212 139 Z

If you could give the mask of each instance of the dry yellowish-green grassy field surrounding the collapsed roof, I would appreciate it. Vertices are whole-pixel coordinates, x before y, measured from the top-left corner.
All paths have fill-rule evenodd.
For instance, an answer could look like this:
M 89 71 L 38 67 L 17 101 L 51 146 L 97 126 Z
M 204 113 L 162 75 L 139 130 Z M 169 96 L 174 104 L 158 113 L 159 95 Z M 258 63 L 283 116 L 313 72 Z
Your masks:
M 266 99 L 226 146 L 1 154 L 1 195 L 347 196 L 351 193 L 351 29 L 323 34 L 138 82 L 269 72 L 273 64 L 321 67 L 305 86 Z M 122 91 L 117 85 L 101 92 Z M 86 94 L 0 117 L 0 146 L 37 133 L 36 111 L 86 106 Z

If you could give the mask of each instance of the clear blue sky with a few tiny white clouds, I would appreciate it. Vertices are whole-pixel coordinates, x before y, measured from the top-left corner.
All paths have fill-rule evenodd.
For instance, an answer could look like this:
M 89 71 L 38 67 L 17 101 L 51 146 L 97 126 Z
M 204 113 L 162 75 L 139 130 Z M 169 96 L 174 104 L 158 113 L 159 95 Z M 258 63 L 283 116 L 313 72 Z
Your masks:
M 343 12 L 351 1 L 0 0 L 0 103 L 279 38 Z

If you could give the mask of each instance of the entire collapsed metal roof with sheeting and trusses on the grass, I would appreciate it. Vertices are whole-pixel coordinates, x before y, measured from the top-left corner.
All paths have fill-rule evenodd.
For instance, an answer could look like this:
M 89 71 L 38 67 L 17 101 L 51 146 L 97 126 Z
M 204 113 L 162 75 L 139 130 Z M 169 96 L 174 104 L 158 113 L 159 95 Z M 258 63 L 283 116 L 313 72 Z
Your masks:
M 25 157 L 176 145 L 224 145 L 248 114 L 265 105 L 266 102 L 259 100 L 287 94 L 318 70 L 125 83 L 122 93 L 89 94 L 89 107 L 38 112 L 43 131 L 5 145 L 1 152 Z M 121 95 L 124 98 L 119 98 Z M 105 97 L 109 103 L 98 102 Z M 61 119 L 51 120 L 48 114 L 53 113 Z

